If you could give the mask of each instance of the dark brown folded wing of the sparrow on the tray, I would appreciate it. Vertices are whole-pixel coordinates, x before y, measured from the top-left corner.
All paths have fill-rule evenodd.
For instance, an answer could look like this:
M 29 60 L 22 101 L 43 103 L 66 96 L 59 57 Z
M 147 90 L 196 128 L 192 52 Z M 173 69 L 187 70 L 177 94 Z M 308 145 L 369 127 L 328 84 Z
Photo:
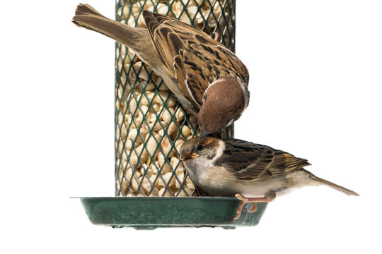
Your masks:
M 226 167 L 237 179 L 245 181 L 267 179 L 310 165 L 306 159 L 287 152 L 235 139 L 226 140 L 226 149 L 216 164 Z

